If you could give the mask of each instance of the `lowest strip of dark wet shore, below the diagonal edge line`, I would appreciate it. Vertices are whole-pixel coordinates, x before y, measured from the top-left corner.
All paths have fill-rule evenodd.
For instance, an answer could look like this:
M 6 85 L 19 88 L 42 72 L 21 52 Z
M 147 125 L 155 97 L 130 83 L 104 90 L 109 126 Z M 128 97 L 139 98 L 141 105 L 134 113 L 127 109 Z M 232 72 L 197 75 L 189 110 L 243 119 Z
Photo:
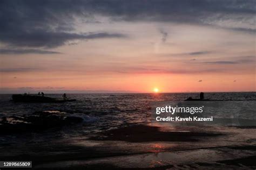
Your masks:
M 239 152 L 239 154 L 237 154 Z M 253 155 L 248 154 L 250 152 Z M 222 154 L 221 157 L 218 154 Z M 236 156 L 229 156 L 233 154 Z M 228 147 L 199 148 L 174 152 L 142 153 L 95 158 L 90 160 L 59 161 L 36 166 L 35 169 L 248 169 L 255 168 L 256 151 L 232 150 Z M 226 158 L 225 158 L 226 157 Z M 126 161 L 129 160 L 129 164 Z

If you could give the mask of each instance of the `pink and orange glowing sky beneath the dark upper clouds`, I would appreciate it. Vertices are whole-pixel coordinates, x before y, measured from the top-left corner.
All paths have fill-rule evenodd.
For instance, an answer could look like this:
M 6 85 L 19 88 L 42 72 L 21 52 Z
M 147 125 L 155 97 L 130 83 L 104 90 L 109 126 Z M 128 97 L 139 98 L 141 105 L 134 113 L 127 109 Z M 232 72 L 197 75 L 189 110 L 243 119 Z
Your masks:
M 24 39 L 23 34 L 18 40 L 0 38 L 0 93 L 255 91 L 250 13 L 222 18 L 213 13 L 203 23 L 191 23 L 164 20 L 161 13 L 163 20 L 127 20 L 95 12 L 66 20 L 72 31 L 55 30 L 56 39 L 46 44 L 40 38 L 30 42 L 25 33 Z M 41 24 L 56 26 L 47 22 Z M 73 37 L 61 42 L 62 36 Z

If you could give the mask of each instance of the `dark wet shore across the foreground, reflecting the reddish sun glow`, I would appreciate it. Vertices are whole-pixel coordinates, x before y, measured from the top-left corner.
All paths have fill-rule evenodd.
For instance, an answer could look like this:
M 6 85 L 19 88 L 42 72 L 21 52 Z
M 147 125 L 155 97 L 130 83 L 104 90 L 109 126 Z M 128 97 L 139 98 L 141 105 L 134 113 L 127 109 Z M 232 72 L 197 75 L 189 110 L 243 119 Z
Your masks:
M 255 166 L 249 165 L 249 160 L 256 155 L 255 131 L 233 127 L 144 124 L 57 143 L 33 144 L 22 148 L 27 149 L 21 151 L 26 154 L 16 156 L 11 153 L 17 150 L 14 147 L 2 147 L 0 152 L 8 152 L 9 156 L 5 154 L 8 160 L 32 160 L 36 169 L 179 169 L 183 166 L 214 169 L 220 164 L 223 164 L 220 168 L 239 169 L 237 159 L 246 164 L 246 168 Z M 239 139 L 235 138 L 238 135 Z M 3 158 L 0 156 L 0 159 Z M 152 161 L 160 163 L 151 164 Z

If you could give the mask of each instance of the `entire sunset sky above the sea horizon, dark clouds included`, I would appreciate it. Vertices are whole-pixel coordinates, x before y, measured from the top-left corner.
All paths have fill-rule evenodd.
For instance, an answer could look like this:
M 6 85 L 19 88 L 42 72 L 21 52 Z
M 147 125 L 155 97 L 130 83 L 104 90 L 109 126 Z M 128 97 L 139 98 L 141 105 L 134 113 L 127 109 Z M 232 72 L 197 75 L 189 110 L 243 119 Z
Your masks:
M 0 93 L 255 91 L 256 1 L 0 1 Z

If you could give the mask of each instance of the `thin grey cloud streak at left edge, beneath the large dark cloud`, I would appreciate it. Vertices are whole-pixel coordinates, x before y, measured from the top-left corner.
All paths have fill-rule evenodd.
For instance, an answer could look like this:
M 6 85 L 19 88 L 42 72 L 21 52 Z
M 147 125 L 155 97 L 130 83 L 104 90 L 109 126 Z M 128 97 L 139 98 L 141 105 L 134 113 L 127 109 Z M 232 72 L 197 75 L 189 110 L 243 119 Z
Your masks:
M 0 54 L 61 54 L 55 51 L 41 49 L 0 49 Z

